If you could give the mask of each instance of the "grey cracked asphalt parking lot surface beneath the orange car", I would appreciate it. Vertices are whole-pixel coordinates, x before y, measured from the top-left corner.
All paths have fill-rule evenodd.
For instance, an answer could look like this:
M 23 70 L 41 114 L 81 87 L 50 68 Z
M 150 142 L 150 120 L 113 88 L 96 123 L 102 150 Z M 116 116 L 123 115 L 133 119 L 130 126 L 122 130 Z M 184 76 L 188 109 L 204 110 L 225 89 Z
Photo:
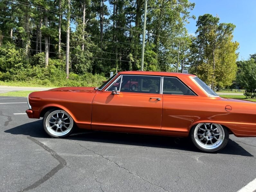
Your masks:
M 188 139 L 78 130 L 65 139 L 29 119 L 24 97 L 0 97 L 0 191 L 238 191 L 256 178 L 256 139 L 215 154 Z

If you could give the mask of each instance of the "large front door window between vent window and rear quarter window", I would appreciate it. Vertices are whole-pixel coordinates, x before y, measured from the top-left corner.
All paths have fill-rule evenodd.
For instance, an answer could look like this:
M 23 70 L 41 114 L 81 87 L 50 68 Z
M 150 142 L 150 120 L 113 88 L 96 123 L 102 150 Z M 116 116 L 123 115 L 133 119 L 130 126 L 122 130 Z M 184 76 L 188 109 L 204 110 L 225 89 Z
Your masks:
M 160 94 L 161 77 L 123 75 L 120 92 Z

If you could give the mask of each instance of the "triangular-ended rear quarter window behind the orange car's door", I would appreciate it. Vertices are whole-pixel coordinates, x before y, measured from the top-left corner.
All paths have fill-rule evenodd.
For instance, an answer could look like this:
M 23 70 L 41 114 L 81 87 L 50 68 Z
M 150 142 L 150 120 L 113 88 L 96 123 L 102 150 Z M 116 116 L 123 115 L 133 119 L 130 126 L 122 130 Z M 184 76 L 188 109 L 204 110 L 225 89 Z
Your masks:
M 178 78 L 164 77 L 163 94 L 196 96 Z

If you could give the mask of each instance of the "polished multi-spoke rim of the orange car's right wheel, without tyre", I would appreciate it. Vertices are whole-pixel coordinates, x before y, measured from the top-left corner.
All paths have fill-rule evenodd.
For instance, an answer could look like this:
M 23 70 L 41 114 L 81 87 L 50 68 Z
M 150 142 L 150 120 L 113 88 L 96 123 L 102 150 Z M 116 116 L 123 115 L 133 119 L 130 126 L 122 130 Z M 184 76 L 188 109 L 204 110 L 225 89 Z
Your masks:
M 194 131 L 197 144 L 204 149 L 218 148 L 224 141 L 225 133 L 220 124 L 199 123 Z

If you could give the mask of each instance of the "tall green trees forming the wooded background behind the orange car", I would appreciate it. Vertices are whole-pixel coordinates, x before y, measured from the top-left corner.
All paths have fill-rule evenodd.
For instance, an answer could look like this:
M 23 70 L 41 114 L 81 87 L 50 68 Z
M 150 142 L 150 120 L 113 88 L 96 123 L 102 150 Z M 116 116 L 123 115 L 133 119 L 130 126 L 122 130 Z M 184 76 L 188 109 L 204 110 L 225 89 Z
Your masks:
M 174 72 L 178 65 L 212 87 L 230 86 L 238 70 L 235 26 L 205 14 L 197 19 L 196 35 L 189 35 L 194 6 L 148 1 L 144 70 Z M 2 0 L 0 80 L 26 80 L 24 73 L 43 79 L 36 70 L 48 79 L 54 71 L 63 79 L 139 70 L 143 12 L 144 0 Z

